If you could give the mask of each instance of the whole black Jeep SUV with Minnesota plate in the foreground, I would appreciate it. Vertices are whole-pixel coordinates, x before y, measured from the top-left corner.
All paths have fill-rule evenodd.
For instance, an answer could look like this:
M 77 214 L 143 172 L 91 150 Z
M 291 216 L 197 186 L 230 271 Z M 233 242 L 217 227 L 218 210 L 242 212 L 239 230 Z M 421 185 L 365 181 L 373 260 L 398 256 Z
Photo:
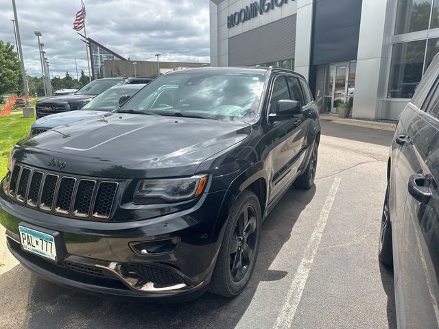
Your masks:
M 320 140 L 305 79 L 283 69 L 162 75 L 111 113 L 18 143 L 0 223 L 23 265 L 137 297 L 234 296 L 261 223 L 311 188 Z

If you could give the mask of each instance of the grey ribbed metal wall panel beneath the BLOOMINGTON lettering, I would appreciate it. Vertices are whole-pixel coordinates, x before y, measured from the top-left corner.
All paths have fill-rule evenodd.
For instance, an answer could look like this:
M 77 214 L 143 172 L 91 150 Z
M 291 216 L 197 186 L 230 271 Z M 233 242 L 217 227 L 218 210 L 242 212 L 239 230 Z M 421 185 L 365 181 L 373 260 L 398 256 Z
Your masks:
M 294 58 L 296 14 L 228 39 L 228 64 L 247 66 Z

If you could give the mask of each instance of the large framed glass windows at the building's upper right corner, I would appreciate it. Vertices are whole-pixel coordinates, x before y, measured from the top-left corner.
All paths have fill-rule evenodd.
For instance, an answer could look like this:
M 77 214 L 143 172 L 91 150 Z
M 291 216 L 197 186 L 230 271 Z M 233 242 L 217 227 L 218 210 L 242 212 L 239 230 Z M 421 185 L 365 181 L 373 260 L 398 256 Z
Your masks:
M 389 98 L 412 98 L 439 51 L 439 32 L 431 31 L 438 27 L 439 0 L 398 1 L 394 29 L 398 39 L 392 45 Z M 410 34 L 412 32 L 418 33 Z

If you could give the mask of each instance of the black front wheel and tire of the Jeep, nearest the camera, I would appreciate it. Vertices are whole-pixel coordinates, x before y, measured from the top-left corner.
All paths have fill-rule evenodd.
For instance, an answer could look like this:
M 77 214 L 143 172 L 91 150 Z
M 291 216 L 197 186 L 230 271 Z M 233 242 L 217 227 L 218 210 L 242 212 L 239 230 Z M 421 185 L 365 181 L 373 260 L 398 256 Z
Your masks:
M 235 297 L 244 291 L 256 263 L 261 219 L 257 196 L 250 191 L 241 193 L 228 215 L 226 231 L 213 269 L 211 292 Z

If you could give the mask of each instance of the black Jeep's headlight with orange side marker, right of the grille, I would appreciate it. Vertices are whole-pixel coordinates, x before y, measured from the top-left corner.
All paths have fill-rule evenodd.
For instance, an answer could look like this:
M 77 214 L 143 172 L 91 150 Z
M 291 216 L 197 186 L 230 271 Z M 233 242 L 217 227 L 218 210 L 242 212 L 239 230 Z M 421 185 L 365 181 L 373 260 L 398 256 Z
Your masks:
M 168 180 L 141 180 L 134 193 L 133 202 L 134 204 L 156 204 L 191 199 L 203 193 L 206 183 L 207 175 Z

